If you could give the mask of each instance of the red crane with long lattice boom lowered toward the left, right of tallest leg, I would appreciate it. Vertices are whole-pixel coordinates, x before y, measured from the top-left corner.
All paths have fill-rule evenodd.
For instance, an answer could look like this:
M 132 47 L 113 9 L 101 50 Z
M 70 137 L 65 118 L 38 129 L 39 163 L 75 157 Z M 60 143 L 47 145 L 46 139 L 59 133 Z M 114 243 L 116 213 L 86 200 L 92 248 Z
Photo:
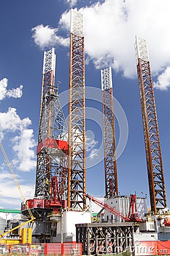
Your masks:
M 86 194 L 86 197 L 94 201 L 96 204 L 98 204 L 100 207 L 103 207 L 105 210 L 107 210 L 110 213 L 113 213 L 114 215 L 121 217 L 125 221 L 134 221 L 134 222 L 142 222 L 142 220 L 139 218 L 139 214 L 136 211 L 136 195 L 130 195 L 130 207 L 129 207 L 129 214 L 128 217 L 116 210 L 114 207 L 111 207 L 111 205 L 108 205 L 104 202 L 101 202 L 100 200 Z

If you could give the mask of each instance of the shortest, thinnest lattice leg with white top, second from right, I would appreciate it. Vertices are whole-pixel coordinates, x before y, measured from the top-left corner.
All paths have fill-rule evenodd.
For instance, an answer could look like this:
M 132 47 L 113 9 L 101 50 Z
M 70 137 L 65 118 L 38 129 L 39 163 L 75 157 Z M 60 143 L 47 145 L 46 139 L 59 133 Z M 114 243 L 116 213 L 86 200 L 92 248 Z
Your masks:
M 103 105 L 105 196 L 107 199 L 111 199 L 118 196 L 111 67 L 101 69 L 101 90 Z

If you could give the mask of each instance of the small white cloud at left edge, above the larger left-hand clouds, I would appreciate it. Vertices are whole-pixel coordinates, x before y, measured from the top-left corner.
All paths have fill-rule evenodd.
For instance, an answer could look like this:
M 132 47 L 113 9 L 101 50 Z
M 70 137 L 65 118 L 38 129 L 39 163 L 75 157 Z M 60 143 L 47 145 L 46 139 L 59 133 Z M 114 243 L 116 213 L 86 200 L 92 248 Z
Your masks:
M 6 78 L 2 79 L 0 81 L 0 100 L 3 100 L 4 98 L 20 98 L 22 97 L 22 89 L 23 85 L 20 85 L 16 89 L 7 90 L 8 86 L 8 80 Z

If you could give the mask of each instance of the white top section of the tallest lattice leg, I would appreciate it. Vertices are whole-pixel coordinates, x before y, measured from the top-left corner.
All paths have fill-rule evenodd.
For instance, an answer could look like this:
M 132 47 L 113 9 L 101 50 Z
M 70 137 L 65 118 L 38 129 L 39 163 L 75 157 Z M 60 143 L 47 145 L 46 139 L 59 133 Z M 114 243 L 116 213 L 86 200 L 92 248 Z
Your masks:
M 76 9 L 71 9 L 70 32 L 77 36 L 84 36 L 84 16 Z

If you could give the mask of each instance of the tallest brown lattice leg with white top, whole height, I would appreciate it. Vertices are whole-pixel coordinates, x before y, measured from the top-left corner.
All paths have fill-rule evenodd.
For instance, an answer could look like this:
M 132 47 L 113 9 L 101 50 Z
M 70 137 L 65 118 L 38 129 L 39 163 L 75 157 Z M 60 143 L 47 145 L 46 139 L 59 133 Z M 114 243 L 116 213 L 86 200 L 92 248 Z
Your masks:
M 71 9 L 68 207 L 86 208 L 83 15 Z

